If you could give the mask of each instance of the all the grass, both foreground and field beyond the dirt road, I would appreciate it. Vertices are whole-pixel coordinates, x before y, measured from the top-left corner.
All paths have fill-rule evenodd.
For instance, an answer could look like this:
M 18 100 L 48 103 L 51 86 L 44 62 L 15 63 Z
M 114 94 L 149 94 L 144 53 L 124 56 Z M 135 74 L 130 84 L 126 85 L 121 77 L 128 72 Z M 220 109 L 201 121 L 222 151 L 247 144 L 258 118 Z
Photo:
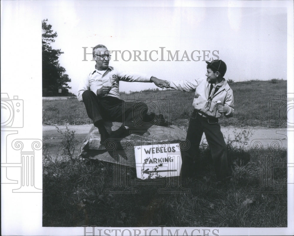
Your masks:
M 222 125 L 268 126 L 268 104 L 272 95 L 283 96 L 287 82 L 247 81 L 230 84 L 234 91 L 235 117 L 220 119 Z M 176 90 L 147 90 L 163 95 L 170 108 L 164 114 L 174 124 L 186 127 L 193 110 L 194 92 Z M 139 93 L 133 92 L 136 97 Z M 123 99 L 127 94 L 121 94 Z M 162 104 L 162 103 L 161 103 Z M 271 117 L 278 122 L 278 114 Z M 272 122 L 272 120 L 271 120 Z M 77 99 L 43 101 L 43 124 L 91 124 L 83 103 Z M 274 168 L 273 183 L 281 193 L 251 193 L 259 186 L 259 153 L 267 150 L 244 149 L 248 133 L 236 133 L 228 140 L 228 159 L 232 178 L 216 183 L 211 154 L 201 145 L 197 163 L 198 175 L 193 179 L 166 179 L 164 184 L 144 180 L 139 184 L 136 171 L 123 169 L 120 178 L 126 179 L 120 190 L 128 186 L 136 193 L 109 193 L 114 173 L 121 168 L 107 162 L 78 158 L 74 132 L 67 129 L 61 142 L 62 156 L 49 156 L 43 150 L 43 226 L 75 227 L 287 227 L 287 185 L 275 180 L 287 177 L 287 170 Z M 232 144 L 240 149 L 234 149 Z M 46 147 L 46 146 L 45 146 Z M 274 163 L 287 162 L 287 150 L 273 152 Z M 173 183 L 175 190 L 189 189 L 189 193 L 160 193 L 158 190 Z M 268 190 L 270 188 L 267 186 Z

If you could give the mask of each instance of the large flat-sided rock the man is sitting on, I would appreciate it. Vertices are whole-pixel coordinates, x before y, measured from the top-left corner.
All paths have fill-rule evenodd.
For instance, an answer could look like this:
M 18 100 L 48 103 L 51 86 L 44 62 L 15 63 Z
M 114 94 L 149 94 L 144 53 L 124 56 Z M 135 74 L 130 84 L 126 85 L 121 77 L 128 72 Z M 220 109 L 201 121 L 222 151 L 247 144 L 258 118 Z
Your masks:
M 117 130 L 122 123 L 108 122 L 108 133 Z M 80 157 L 103 160 L 123 164 L 131 167 L 136 166 L 134 147 L 140 145 L 168 145 L 169 143 L 181 143 L 185 146 L 186 132 L 175 125 L 163 127 L 152 125 L 149 128 L 137 128 L 123 139 L 108 139 L 105 145 L 100 144 L 98 128 L 93 126 L 83 141 Z

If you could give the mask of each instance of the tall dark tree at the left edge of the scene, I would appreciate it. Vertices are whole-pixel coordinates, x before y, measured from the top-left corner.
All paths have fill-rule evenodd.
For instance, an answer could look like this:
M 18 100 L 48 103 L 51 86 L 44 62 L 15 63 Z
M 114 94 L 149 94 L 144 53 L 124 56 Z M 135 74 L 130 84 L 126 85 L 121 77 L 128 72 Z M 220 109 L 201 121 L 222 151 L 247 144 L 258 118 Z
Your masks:
M 52 49 L 57 33 L 53 33 L 48 19 L 42 21 L 42 96 L 69 95 L 71 79 L 65 74 L 65 68 L 59 64 L 59 56 L 64 53 L 61 49 Z M 61 94 L 59 93 L 61 89 Z

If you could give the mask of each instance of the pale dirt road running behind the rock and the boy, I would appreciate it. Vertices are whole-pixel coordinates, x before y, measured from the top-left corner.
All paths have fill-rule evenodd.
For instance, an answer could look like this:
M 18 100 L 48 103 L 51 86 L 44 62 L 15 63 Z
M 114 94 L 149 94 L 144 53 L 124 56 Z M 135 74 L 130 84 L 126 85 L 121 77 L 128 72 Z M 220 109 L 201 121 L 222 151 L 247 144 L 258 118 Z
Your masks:
M 66 131 L 66 126 L 58 126 L 59 130 L 63 133 Z M 78 152 L 84 138 L 90 131 L 92 125 L 67 125 L 69 130 L 75 131 L 75 146 L 76 151 Z M 285 128 L 266 128 L 266 127 L 246 127 L 246 128 L 236 128 L 234 126 L 222 127 L 221 128 L 223 135 L 225 136 L 225 140 L 230 138 L 230 140 L 234 139 L 235 133 L 241 134 L 242 132 L 247 133 L 248 131 L 253 133 L 251 136 L 248 136 L 249 141 L 248 145 L 245 147 L 250 147 L 250 144 L 253 145 L 253 142 L 258 141 L 262 143 L 264 147 L 270 146 L 270 144 L 274 141 L 275 143 L 279 143 L 282 148 L 287 148 L 287 132 L 285 132 Z M 241 135 L 242 137 L 244 135 Z M 43 143 L 44 147 L 46 147 L 49 151 L 50 155 L 56 156 L 61 154 L 60 145 L 62 141 L 63 135 L 57 132 L 57 128 L 51 125 L 43 126 Z M 202 140 L 206 142 L 205 136 L 203 135 Z M 59 152 L 59 154 L 58 154 Z

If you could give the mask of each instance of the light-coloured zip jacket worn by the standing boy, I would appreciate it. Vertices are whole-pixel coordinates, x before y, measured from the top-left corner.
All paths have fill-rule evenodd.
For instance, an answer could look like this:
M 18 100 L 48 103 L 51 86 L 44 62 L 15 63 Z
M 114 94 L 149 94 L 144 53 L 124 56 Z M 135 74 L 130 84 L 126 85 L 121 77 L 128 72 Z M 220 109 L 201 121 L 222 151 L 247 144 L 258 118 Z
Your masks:
M 224 81 L 223 86 L 221 86 L 218 91 L 213 95 L 210 106 L 205 108 L 206 102 L 209 97 L 210 85 L 206 80 L 206 77 L 202 77 L 194 80 L 178 80 L 175 82 L 170 82 L 170 86 L 173 89 L 178 89 L 181 91 L 195 91 L 195 96 L 193 100 L 193 107 L 199 112 L 204 113 L 207 116 L 220 117 L 222 114 L 217 111 L 216 103 L 221 101 L 223 106 L 228 107 L 228 113 L 224 116 L 231 117 L 234 112 L 234 96 L 233 91 L 228 85 L 227 81 Z

